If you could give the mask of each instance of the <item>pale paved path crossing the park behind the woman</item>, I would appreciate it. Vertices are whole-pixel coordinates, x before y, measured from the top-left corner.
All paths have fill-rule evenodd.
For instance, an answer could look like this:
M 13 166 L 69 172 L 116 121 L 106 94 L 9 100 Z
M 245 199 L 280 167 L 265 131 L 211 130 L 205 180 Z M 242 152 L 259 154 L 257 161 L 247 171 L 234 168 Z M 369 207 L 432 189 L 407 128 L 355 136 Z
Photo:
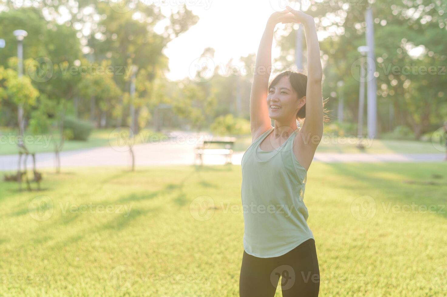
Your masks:
M 136 166 L 194 164 L 195 143 L 155 142 L 133 146 Z M 244 152 L 236 152 L 232 163 L 240 164 Z M 440 162 L 445 154 L 340 154 L 316 153 L 317 162 Z M 66 151 L 60 154 L 62 167 L 99 167 L 130 166 L 131 155 L 126 147 L 98 147 L 77 151 Z M 36 154 L 37 167 L 54 167 L 54 153 Z M 205 164 L 223 164 L 225 159 L 219 155 L 205 155 Z M 0 156 L 0 171 L 17 170 L 17 155 Z M 31 168 L 31 158 L 28 160 Z

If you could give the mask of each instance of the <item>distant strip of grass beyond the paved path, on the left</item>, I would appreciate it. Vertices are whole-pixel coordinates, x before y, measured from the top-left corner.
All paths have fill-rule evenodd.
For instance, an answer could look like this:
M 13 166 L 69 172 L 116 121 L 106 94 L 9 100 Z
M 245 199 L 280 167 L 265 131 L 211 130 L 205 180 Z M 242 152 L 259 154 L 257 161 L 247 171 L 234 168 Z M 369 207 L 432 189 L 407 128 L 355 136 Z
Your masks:
M 116 137 L 111 134 L 114 129 L 96 129 L 92 131 L 90 137 L 87 141 L 79 141 L 79 140 L 67 140 L 64 142 L 63 151 L 73 151 L 80 149 L 93 148 L 98 146 L 109 146 L 110 144 L 116 144 Z M 10 135 L 15 135 L 10 130 L 0 130 L 3 136 L 0 136 L 0 155 L 13 155 L 17 154 L 17 144 L 15 138 L 11 138 Z M 151 141 L 151 137 L 161 136 L 163 134 L 156 133 L 152 130 L 144 129 L 140 132 L 140 134 L 135 138 L 135 144 L 142 142 Z M 26 146 L 29 151 L 35 153 L 42 152 L 53 152 L 54 151 L 54 143 L 59 143 L 59 134 L 55 135 L 39 135 L 25 136 Z M 12 139 L 12 140 L 10 140 Z

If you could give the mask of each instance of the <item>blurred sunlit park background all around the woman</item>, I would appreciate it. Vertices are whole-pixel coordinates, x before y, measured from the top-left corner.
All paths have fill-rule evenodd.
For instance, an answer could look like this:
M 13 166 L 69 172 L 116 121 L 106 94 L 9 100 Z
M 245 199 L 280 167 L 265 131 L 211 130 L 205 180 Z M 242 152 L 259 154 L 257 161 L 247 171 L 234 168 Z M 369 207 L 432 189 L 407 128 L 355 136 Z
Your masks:
M 238 296 L 256 52 L 286 5 L 330 116 L 320 296 L 447 296 L 445 0 L 0 0 L 2 295 Z M 306 54 L 278 24 L 271 79 Z

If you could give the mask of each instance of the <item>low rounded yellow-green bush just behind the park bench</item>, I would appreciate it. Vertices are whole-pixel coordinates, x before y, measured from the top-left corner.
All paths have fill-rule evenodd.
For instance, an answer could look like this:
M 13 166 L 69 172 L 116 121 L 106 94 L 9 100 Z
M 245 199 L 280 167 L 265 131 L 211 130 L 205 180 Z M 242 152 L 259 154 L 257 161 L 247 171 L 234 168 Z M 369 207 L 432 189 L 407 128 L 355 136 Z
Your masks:
M 227 114 L 216 117 L 214 123 L 211 124 L 210 130 L 213 134 L 221 136 L 247 135 L 250 134 L 250 121 Z

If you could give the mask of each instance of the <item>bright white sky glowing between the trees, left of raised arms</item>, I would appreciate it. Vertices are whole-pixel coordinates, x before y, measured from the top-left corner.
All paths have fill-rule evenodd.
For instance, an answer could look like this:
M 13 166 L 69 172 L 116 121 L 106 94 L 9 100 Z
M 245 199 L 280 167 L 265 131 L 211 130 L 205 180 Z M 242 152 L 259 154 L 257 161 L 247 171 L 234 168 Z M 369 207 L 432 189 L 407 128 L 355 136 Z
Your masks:
M 266 21 L 274 11 L 283 10 L 279 7 L 281 2 L 287 0 L 186 0 L 186 6 L 200 19 L 164 50 L 169 58 L 167 77 L 177 80 L 189 76 L 191 63 L 206 47 L 215 49 L 216 66 L 225 65 L 231 58 L 237 64 L 241 56 L 256 54 Z M 272 58 L 278 54 L 274 47 L 273 42 Z

